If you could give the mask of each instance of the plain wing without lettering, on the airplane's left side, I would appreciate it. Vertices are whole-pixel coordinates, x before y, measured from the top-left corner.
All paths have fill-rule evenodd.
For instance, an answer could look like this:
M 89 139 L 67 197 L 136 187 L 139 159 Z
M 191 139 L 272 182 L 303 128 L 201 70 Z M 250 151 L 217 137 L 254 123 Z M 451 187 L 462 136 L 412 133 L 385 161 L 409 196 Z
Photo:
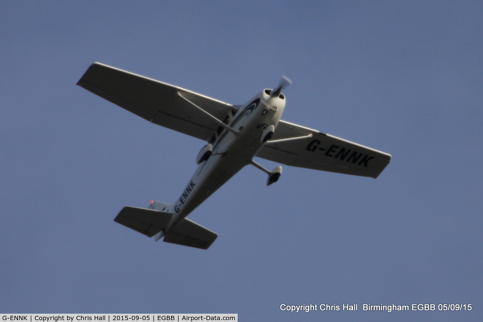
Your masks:
M 99 62 L 87 69 L 77 85 L 152 123 L 205 141 L 213 135 L 218 124 L 179 97 L 178 92 L 220 120 L 233 106 Z

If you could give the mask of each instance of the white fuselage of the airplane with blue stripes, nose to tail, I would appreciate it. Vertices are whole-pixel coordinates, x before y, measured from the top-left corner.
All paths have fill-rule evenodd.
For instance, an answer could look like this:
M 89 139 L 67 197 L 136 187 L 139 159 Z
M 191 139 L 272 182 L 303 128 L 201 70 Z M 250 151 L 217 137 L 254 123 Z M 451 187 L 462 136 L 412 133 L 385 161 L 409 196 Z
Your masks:
M 173 213 L 173 217 L 167 230 L 188 216 L 245 165 L 250 164 L 263 146 L 261 137 L 264 130 L 270 125 L 277 127 L 284 107 L 283 95 L 270 97 L 270 94 L 262 91 L 234 116 L 228 116 L 231 118 L 228 125 L 239 134 L 226 129 L 215 131 L 213 154 L 199 164 L 180 198 L 171 205 L 169 212 Z

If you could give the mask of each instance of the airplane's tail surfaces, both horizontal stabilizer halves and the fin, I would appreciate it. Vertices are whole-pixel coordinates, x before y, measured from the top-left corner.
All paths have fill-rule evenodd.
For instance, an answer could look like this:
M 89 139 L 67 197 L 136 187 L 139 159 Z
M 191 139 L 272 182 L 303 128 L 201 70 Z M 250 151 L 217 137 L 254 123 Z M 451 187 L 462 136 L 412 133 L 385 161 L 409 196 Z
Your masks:
M 157 204 L 155 205 L 155 203 Z M 156 208 L 158 208 L 159 204 L 163 204 L 161 209 L 168 205 L 160 202 L 151 203 Z M 170 212 L 126 206 L 119 212 L 114 221 L 148 237 L 156 235 L 157 240 L 163 236 L 164 229 L 168 226 L 171 216 L 172 213 Z M 163 241 L 208 249 L 217 237 L 218 235 L 211 230 L 184 218 L 166 233 Z

